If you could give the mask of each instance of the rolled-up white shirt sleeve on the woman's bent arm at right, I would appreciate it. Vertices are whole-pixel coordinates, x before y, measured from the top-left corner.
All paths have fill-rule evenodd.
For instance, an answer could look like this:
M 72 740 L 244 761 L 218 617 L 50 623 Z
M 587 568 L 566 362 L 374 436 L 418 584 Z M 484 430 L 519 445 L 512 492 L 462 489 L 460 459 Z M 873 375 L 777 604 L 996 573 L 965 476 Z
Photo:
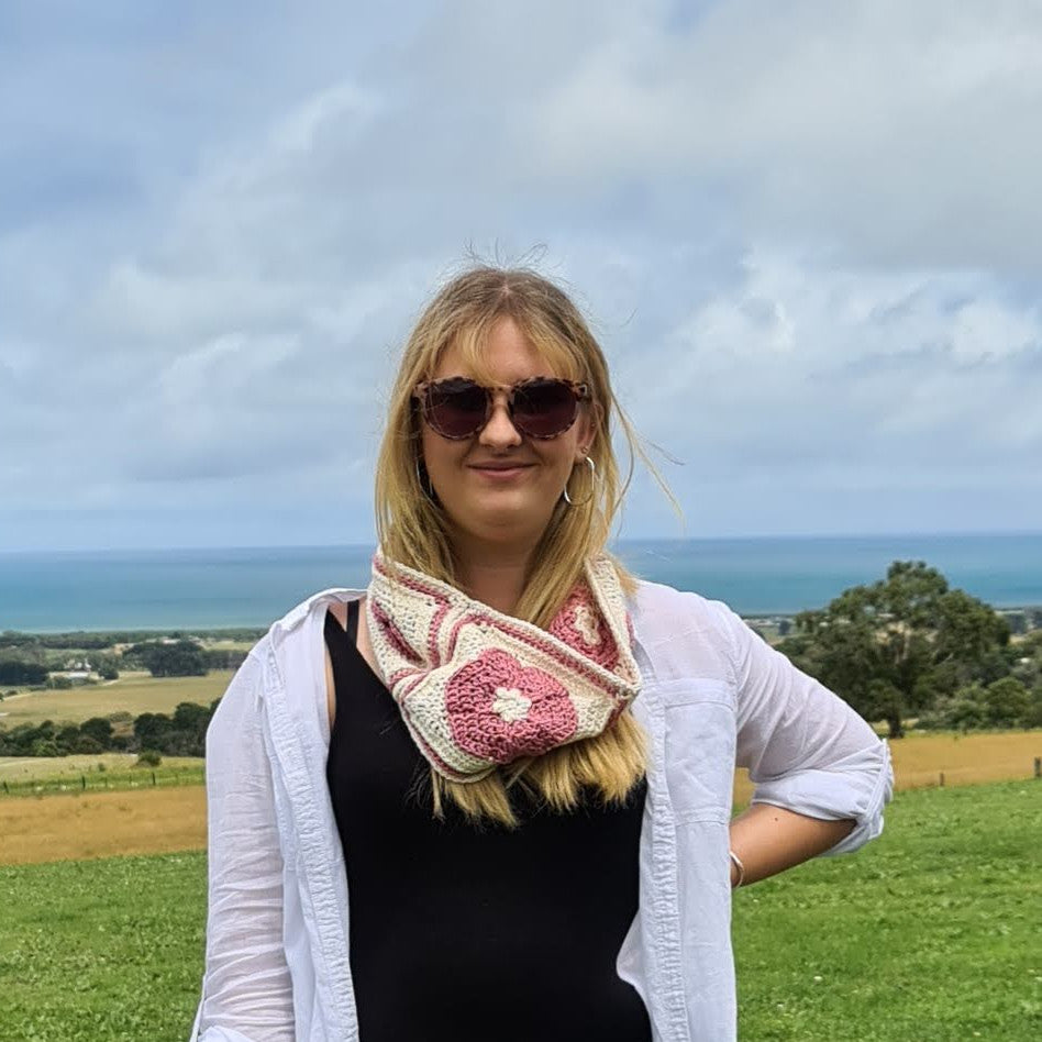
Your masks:
M 853 820 L 853 831 L 829 855 L 875 839 L 894 790 L 886 742 L 839 696 L 716 605 L 731 639 L 736 763 L 749 768 L 752 801 L 825 821 Z

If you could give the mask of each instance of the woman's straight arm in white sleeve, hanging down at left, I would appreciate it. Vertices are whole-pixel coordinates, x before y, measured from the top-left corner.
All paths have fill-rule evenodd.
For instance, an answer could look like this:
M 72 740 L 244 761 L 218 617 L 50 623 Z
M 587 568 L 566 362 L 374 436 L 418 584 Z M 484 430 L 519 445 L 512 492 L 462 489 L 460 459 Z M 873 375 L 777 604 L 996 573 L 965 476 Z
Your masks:
M 200 1042 L 293 1038 L 282 857 L 262 712 L 262 664 L 251 654 L 207 732 L 209 911 Z

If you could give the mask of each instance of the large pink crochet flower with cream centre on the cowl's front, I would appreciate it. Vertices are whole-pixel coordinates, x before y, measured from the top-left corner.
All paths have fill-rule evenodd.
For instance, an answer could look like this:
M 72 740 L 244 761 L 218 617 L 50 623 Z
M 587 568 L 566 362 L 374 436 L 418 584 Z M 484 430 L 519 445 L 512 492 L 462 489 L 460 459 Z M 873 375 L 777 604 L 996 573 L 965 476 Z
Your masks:
M 539 756 L 567 742 L 578 723 L 568 692 L 554 677 L 498 647 L 448 679 L 445 710 L 456 745 L 497 764 Z

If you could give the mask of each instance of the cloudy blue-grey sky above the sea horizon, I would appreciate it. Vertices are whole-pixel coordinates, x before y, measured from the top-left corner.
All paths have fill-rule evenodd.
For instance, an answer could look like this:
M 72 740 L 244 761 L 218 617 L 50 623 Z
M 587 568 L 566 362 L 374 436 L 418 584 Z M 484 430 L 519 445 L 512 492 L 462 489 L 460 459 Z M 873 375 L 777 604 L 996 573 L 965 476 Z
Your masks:
M 0 551 L 366 543 L 468 256 L 580 304 L 683 508 L 1042 530 L 1037 0 L 0 5 Z

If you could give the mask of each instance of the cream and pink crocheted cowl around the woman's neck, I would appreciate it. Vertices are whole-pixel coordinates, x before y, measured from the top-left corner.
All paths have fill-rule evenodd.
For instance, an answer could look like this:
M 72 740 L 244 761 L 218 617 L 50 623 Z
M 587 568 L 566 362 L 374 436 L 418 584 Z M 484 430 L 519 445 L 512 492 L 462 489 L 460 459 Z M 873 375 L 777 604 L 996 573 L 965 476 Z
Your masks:
M 366 618 L 413 741 L 453 782 L 594 738 L 640 691 L 630 619 L 607 557 L 587 562 L 546 631 L 377 552 Z

